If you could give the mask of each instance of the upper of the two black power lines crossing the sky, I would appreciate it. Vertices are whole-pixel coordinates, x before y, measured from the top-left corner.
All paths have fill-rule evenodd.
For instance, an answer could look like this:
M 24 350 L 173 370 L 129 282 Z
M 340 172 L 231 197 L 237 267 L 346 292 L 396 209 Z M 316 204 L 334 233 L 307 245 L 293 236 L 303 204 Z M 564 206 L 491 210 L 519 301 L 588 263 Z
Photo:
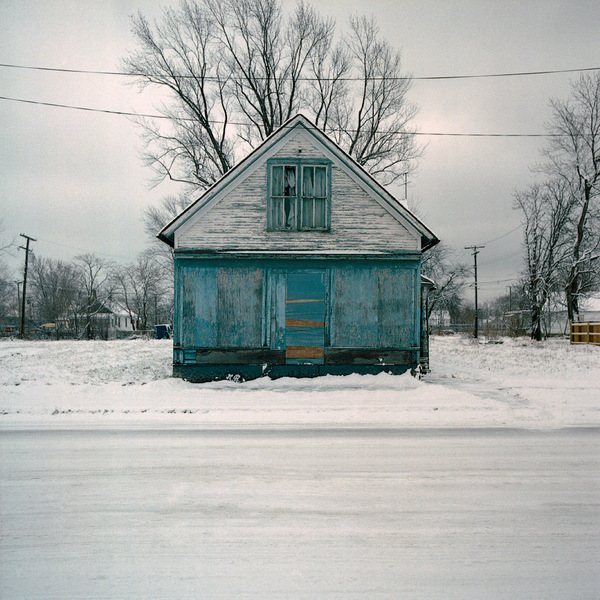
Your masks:
M 95 71 L 88 69 L 62 69 L 57 67 L 38 67 L 32 65 L 15 65 L 8 63 L 0 63 L 0 67 L 7 69 L 23 69 L 30 71 L 49 71 L 53 73 L 74 73 L 83 75 L 110 75 L 118 77 L 148 77 L 148 73 L 123 73 L 122 71 Z M 471 75 L 424 75 L 424 76 L 400 76 L 400 77 L 373 77 L 374 80 L 386 81 L 443 81 L 447 79 L 492 79 L 502 77 L 532 77 L 538 75 L 557 75 L 561 73 L 583 73 L 586 71 L 600 71 L 600 67 L 584 67 L 577 69 L 549 69 L 543 71 L 515 71 L 508 73 L 477 73 Z M 194 75 L 174 75 L 176 79 L 196 79 Z M 216 76 L 206 76 L 204 79 L 209 81 L 219 81 Z M 267 77 L 256 77 L 257 80 L 264 80 Z M 286 78 L 288 79 L 288 78 Z M 299 77 L 298 81 L 362 81 L 361 77 Z

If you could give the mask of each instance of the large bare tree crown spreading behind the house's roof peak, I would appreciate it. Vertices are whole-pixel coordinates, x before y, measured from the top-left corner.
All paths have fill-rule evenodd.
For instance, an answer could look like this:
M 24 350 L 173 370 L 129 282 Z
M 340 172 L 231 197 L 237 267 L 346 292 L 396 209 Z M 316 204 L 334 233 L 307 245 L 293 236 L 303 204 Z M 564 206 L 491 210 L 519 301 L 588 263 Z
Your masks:
M 164 120 L 140 120 L 159 180 L 206 188 L 299 111 L 383 183 L 420 155 L 410 78 L 372 19 L 351 18 L 336 45 L 302 1 L 287 17 L 278 0 L 183 0 L 154 24 L 138 14 L 133 34 L 124 71 L 172 99 Z

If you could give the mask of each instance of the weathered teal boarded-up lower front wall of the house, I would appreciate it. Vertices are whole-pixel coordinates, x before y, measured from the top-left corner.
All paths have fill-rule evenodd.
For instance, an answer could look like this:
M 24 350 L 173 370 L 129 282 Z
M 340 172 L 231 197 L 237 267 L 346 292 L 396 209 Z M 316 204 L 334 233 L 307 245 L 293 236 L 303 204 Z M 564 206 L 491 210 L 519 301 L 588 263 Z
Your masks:
M 419 269 L 418 256 L 176 257 L 175 363 L 416 366 Z

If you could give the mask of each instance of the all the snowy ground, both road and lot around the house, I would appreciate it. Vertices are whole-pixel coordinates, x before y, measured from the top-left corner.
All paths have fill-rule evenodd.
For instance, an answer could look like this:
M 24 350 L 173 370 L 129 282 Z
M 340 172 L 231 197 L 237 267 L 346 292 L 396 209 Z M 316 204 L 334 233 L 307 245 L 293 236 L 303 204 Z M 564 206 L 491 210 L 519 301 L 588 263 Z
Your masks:
M 597 600 L 600 349 L 170 378 L 163 341 L 0 342 L 0 598 Z

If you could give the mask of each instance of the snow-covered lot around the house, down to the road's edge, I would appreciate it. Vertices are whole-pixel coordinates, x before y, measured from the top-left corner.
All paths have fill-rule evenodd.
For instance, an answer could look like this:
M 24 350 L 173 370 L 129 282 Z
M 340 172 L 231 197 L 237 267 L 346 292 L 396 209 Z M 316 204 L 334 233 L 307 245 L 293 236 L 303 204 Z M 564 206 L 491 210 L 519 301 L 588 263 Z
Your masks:
M 190 384 L 171 342 L 0 341 L 0 429 L 600 425 L 600 347 L 434 338 L 432 372 Z

